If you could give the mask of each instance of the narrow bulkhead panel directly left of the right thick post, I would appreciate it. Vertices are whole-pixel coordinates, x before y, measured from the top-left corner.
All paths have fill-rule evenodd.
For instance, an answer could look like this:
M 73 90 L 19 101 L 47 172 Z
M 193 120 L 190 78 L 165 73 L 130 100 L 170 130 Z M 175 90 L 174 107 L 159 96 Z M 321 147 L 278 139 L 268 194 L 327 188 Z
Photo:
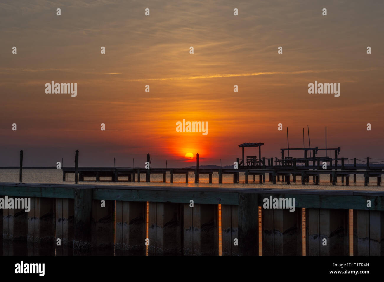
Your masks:
M 221 205 L 222 256 L 238 256 L 238 206 Z

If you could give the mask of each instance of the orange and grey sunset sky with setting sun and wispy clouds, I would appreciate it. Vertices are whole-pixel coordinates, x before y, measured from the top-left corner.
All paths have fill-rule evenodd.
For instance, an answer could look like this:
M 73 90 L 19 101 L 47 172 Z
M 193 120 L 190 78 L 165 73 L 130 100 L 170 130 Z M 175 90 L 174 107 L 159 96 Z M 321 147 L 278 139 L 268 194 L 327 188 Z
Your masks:
M 144 167 L 147 153 L 151 167 L 165 159 L 194 165 L 186 153 L 199 153 L 200 165 L 231 165 L 244 142 L 280 157 L 287 127 L 291 148 L 303 146 L 303 128 L 309 147 L 307 125 L 311 147 L 325 147 L 327 127 L 327 147 L 341 147 L 339 157 L 384 158 L 383 8 L 351 0 L 3 0 L 0 166 L 17 166 L 20 150 L 24 166 L 61 158 L 73 166 L 75 150 L 80 166 L 116 158 L 132 167 L 134 158 Z M 51 81 L 77 83 L 77 96 L 46 94 Z M 340 96 L 309 94 L 314 81 L 340 83 Z M 183 119 L 208 122 L 208 134 L 177 132 Z

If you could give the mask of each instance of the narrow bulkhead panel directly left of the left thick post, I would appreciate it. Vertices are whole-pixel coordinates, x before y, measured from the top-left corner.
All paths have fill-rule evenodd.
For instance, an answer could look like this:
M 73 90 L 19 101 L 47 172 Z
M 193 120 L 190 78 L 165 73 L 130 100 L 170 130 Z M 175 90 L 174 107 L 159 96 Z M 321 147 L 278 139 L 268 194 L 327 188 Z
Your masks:
M 74 200 L 56 199 L 56 239 L 61 246 L 73 246 L 74 238 Z

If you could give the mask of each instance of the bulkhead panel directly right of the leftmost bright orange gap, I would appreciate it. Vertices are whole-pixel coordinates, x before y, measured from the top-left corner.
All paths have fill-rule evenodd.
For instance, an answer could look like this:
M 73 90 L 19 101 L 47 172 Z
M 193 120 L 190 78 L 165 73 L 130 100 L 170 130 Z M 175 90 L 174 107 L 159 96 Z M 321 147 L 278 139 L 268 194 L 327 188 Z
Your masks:
M 149 202 L 148 255 L 182 254 L 183 211 L 184 204 Z

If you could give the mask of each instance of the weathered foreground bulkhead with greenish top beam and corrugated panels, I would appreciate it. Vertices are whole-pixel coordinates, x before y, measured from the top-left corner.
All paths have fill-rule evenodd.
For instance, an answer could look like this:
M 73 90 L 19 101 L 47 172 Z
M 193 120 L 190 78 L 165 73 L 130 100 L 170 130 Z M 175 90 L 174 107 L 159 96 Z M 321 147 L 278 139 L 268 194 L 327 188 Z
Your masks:
M 263 255 L 303 254 L 305 212 L 306 255 L 348 256 L 349 209 L 354 255 L 384 255 L 384 191 L 0 183 L 0 195 L 33 203 L 29 212 L 0 209 L 3 244 L 46 242 L 57 251 L 73 244 L 76 254 L 115 247 L 145 255 L 148 247 L 149 255 L 218 255 L 221 204 L 223 255 L 259 255 L 259 206 Z M 295 211 L 263 208 L 270 197 L 295 199 Z

